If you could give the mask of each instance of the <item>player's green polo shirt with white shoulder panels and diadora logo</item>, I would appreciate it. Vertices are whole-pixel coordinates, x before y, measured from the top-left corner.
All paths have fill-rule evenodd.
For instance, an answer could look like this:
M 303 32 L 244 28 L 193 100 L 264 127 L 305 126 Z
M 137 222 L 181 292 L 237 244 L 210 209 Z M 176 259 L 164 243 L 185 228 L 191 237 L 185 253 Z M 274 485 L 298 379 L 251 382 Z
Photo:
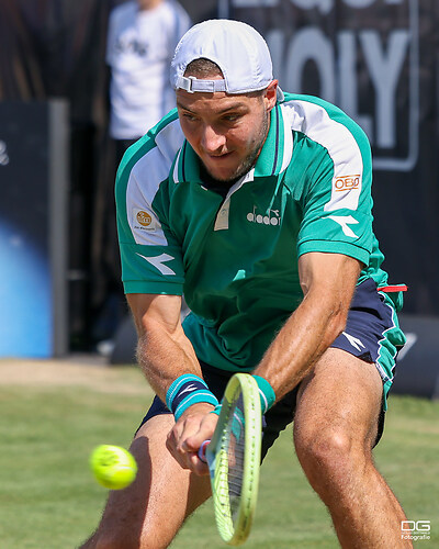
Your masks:
M 117 172 L 125 292 L 184 293 L 198 357 L 249 371 L 303 298 L 301 255 L 344 254 L 363 264 L 359 282 L 386 283 L 371 182 L 362 130 L 323 100 L 285 94 L 255 167 L 224 199 L 203 186 L 172 111 Z

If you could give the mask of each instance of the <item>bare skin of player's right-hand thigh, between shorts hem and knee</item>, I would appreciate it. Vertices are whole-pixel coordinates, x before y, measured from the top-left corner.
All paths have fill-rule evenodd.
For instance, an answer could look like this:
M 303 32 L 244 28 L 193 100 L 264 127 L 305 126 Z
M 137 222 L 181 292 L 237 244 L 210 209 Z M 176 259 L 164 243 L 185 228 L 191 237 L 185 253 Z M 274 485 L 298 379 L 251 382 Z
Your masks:
M 382 419 L 383 382 L 372 362 L 329 348 L 301 383 L 294 419 L 297 444 L 368 453 Z

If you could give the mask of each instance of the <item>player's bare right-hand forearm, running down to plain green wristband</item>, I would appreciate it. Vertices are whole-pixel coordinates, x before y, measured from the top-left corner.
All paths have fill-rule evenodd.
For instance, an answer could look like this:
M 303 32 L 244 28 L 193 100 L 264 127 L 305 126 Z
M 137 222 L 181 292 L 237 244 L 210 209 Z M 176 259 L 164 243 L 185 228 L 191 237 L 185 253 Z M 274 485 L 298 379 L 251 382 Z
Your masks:
M 294 389 L 345 327 L 347 309 L 307 294 L 286 321 L 254 373 L 266 378 L 279 401 Z

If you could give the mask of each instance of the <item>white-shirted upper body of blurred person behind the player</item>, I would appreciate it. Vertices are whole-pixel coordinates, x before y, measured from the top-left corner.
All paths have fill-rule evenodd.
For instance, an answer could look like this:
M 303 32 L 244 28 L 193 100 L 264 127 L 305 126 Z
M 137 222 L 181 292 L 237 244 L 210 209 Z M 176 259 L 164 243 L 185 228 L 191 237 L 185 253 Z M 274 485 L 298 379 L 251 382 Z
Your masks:
M 117 164 L 130 145 L 176 107 L 169 64 L 190 26 L 188 13 L 175 0 L 133 0 L 111 11 L 106 63 Z

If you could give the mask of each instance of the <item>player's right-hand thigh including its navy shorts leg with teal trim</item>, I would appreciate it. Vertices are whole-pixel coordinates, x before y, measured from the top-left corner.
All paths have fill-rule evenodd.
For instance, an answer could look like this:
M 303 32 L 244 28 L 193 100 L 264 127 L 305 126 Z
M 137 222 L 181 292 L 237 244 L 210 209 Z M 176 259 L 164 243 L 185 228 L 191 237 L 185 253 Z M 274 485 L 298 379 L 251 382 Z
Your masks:
M 300 385 L 297 440 L 299 435 L 316 429 L 319 437 L 338 437 L 348 446 L 353 440 L 365 445 L 367 450 L 376 445 L 403 339 L 395 313 L 374 281 L 362 282 L 352 299 L 345 330 Z

